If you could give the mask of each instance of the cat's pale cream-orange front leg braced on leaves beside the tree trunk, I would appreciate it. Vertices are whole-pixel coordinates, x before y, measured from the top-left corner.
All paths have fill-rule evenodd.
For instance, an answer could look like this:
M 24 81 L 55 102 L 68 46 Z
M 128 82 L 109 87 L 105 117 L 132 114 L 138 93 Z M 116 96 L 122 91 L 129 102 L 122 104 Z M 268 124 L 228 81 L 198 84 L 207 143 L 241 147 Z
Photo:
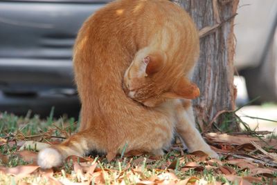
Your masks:
M 186 100 L 188 101 L 188 100 Z M 182 104 L 177 105 L 177 133 L 188 147 L 189 152 L 202 150 L 209 157 L 218 158 L 217 153 L 204 141 L 202 135 L 195 127 L 195 117 L 192 106 L 184 108 Z

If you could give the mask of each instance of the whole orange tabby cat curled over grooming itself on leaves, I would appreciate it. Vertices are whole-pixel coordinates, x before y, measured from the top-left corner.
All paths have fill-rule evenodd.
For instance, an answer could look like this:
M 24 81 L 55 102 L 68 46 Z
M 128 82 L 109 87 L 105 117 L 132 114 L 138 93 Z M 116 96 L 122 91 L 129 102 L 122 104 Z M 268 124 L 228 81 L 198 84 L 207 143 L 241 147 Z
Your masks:
M 198 52 L 193 21 L 168 0 L 119 0 L 98 10 L 80 29 L 73 53 L 82 101 L 80 131 L 62 144 L 41 150 L 38 164 L 59 166 L 65 157 L 82 156 L 89 150 L 111 158 L 124 146 L 126 152 L 162 155 L 175 130 L 190 151 L 203 150 L 217 157 L 195 128 L 191 108 L 184 110 L 184 102 L 172 99 L 199 94 L 187 79 Z M 141 95 L 134 96 L 145 106 L 123 90 L 125 70 L 132 61 L 145 65 L 139 73 L 148 77 L 145 83 L 140 81 Z M 134 83 L 127 86 L 134 92 Z

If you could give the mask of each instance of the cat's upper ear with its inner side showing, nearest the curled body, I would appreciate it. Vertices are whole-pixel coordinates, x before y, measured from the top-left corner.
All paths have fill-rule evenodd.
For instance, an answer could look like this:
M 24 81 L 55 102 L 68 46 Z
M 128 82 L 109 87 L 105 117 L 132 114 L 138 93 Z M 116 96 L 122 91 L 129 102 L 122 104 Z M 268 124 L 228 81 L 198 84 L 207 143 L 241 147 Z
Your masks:
M 161 70 L 163 67 L 164 57 L 159 54 L 148 55 L 143 58 L 142 70 L 144 70 L 145 74 L 154 75 L 154 73 Z

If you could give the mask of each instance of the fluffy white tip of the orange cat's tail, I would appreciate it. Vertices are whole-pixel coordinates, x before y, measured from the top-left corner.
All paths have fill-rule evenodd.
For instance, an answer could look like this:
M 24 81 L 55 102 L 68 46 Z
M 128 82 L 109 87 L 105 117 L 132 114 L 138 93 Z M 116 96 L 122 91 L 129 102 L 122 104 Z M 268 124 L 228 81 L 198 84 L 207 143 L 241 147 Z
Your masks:
M 44 148 L 39 152 L 37 164 L 41 168 L 52 168 L 62 164 L 62 155 L 54 148 Z

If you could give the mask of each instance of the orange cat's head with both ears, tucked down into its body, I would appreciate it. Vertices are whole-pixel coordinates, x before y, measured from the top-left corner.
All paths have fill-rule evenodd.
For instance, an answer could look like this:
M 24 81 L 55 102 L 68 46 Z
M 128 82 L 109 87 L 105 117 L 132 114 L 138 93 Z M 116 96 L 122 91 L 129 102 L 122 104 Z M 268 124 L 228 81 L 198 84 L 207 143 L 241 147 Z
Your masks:
M 152 53 L 136 56 L 125 71 L 123 90 L 130 98 L 144 106 L 154 107 L 166 99 L 195 99 L 199 88 L 186 77 L 172 77 L 166 70 L 166 56 Z

